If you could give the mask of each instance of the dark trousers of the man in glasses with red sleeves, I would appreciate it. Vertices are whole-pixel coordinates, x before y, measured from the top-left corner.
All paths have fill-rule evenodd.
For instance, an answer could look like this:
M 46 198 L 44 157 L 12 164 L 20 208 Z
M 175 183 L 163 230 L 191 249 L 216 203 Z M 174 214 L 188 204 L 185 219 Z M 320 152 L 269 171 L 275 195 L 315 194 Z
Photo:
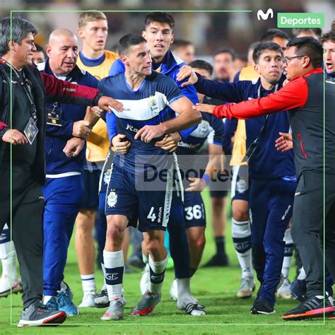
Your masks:
M 324 295 L 324 256 L 335 278 L 335 175 L 302 173 L 295 191 L 291 235 L 306 272 L 307 296 Z M 324 223 L 326 217 L 326 224 Z M 325 239 L 325 255 L 320 238 Z

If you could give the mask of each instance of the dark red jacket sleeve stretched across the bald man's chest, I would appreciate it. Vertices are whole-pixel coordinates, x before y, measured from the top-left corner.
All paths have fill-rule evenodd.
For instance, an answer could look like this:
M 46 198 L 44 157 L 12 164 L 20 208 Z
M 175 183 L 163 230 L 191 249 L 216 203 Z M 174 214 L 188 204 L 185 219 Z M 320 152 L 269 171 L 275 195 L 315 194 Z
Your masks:
M 82 86 L 60 79 L 49 74 L 41 74 L 45 93 L 49 102 L 59 101 L 78 105 L 97 105 L 102 95 L 100 90 Z

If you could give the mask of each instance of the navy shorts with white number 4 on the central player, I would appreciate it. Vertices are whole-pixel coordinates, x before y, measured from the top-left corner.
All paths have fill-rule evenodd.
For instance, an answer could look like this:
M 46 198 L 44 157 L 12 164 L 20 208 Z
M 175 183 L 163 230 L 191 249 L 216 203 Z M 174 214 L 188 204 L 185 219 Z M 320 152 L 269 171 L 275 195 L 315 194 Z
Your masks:
M 172 203 L 172 177 L 167 178 L 164 191 L 138 190 L 135 183 L 134 174 L 113 165 L 107 188 L 106 216 L 127 216 L 129 225 L 135 225 L 138 219 L 141 232 L 166 230 Z

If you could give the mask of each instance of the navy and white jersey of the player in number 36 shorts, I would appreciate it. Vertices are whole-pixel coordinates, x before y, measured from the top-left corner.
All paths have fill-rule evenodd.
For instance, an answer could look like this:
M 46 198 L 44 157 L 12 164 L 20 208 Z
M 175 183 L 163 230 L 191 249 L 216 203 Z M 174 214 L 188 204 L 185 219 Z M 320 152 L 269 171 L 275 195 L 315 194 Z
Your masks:
M 183 141 L 178 143 L 177 155 L 195 155 L 204 145 L 208 143 L 222 146 L 223 122 L 212 114 L 201 112 L 202 121 L 198 127 Z

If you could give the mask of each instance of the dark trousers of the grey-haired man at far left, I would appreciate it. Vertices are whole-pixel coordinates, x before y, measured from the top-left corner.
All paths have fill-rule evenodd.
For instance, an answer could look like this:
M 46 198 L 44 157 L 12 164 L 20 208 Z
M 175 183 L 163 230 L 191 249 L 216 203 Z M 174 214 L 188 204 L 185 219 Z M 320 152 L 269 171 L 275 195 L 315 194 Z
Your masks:
M 5 223 L 12 229 L 22 278 L 23 307 L 28 307 L 42 300 L 43 292 L 42 188 L 32 180 L 30 170 L 12 170 L 10 202 L 10 170 L 0 170 L 0 181 L 0 232 Z

